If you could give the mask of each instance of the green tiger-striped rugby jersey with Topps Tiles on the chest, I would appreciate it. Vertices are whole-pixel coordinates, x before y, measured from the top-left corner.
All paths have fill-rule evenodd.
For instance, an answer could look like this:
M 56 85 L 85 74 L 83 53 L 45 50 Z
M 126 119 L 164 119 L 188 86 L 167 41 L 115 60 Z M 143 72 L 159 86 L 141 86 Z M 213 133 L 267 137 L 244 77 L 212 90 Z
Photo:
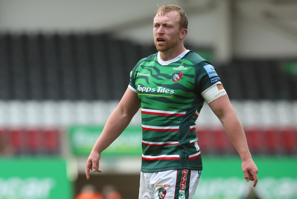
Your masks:
M 129 84 L 141 108 L 141 171 L 201 170 L 195 132 L 204 104 L 200 93 L 220 78 L 209 61 L 192 51 L 168 62 L 157 57 L 158 53 L 141 59 Z

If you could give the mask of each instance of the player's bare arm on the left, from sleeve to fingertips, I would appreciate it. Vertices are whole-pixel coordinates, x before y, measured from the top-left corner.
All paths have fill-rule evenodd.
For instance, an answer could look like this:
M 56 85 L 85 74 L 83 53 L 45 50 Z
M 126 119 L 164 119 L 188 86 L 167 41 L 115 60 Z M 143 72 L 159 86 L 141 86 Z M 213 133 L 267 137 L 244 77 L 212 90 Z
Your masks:
M 102 172 L 99 169 L 101 152 L 121 135 L 139 108 L 140 105 L 137 93 L 127 88 L 118 106 L 108 118 L 101 135 L 88 157 L 85 170 L 87 179 L 90 179 L 90 169 L 94 172 Z

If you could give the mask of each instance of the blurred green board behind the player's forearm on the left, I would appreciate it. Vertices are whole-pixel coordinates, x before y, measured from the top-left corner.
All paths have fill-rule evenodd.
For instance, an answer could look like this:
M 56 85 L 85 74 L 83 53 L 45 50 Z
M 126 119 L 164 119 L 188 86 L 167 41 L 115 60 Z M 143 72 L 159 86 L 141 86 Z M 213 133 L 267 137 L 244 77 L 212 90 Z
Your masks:
M 71 151 L 76 156 L 88 156 L 104 126 L 72 126 L 68 129 Z M 109 156 L 141 156 L 142 128 L 128 126 L 102 154 Z

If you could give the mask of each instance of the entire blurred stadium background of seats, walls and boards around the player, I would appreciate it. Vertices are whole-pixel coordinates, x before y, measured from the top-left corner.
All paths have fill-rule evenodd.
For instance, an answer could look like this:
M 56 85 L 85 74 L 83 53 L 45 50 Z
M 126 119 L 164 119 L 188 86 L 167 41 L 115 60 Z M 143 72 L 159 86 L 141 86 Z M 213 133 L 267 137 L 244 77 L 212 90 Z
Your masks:
M 75 198 L 92 184 L 137 198 L 140 114 L 84 174 L 137 61 L 156 52 L 164 1 L 0 0 L 0 198 Z M 185 46 L 209 59 L 246 132 L 259 183 L 205 105 L 197 120 L 204 198 L 297 198 L 297 2 L 180 0 Z M 253 195 L 257 195 L 253 196 Z

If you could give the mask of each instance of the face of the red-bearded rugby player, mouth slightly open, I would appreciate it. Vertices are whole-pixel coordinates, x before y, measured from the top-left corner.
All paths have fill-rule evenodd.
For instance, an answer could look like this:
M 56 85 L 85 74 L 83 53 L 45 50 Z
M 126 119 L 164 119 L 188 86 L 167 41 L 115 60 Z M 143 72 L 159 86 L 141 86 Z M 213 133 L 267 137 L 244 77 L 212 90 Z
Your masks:
M 166 52 L 176 47 L 180 41 L 179 13 L 171 11 L 164 16 L 156 14 L 154 18 L 154 42 L 160 52 Z

